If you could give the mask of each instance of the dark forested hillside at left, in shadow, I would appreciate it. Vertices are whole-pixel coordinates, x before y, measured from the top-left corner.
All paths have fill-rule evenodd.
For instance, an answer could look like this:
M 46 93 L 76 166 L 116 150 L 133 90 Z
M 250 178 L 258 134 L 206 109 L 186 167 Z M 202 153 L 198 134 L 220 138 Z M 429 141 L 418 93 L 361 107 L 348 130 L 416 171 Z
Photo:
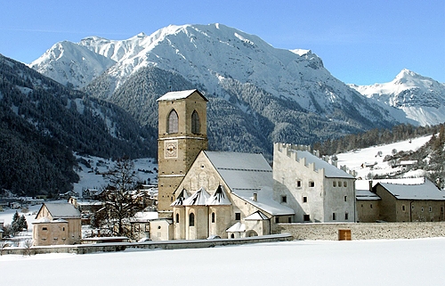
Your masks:
M 102 158 L 155 157 L 156 132 L 124 110 L 45 78 L 0 55 L 0 187 L 67 192 L 73 151 Z

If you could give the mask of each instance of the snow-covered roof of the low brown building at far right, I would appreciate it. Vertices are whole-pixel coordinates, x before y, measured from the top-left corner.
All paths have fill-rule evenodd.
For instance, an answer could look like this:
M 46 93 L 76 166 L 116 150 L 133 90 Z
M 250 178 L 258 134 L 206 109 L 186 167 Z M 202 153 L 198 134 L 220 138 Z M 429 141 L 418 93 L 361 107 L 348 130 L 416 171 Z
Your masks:
M 423 184 L 378 184 L 398 200 L 445 200 L 445 192 L 427 179 Z

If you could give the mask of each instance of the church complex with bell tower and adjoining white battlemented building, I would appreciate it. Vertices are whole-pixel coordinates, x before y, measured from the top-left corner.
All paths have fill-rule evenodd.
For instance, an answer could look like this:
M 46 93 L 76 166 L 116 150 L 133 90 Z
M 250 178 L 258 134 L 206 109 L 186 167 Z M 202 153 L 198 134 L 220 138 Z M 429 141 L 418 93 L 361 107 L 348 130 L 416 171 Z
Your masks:
M 169 239 L 242 238 L 274 233 L 281 223 L 355 221 L 353 177 L 309 151 L 276 143 L 273 170 L 262 154 L 207 151 L 206 102 L 198 90 L 158 99 L 158 217 L 169 222 Z M 294 185 L 308 178 L 308 188 Z

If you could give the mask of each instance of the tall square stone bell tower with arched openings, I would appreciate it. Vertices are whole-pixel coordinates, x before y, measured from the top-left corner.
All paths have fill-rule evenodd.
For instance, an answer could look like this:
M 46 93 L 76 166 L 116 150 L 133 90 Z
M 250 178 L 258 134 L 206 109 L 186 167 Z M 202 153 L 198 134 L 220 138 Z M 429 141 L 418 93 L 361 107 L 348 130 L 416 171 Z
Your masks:
M 171 218 L 174 191 L 207 149 L 206 97 L 197 89 L 158 98 L 158 215 Z

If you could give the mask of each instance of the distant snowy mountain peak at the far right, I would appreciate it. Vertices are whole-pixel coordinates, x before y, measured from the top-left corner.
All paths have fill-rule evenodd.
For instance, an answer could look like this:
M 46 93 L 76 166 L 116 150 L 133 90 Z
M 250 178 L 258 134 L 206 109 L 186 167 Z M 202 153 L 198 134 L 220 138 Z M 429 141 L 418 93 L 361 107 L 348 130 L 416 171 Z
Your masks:
M 433 78 L 402 69 L 389 83 L 350 86 L 368 98 L 383 102 L 383 107 L 403 110 L 406 118 L 422 126 L 445 122 L 445 85 Z

